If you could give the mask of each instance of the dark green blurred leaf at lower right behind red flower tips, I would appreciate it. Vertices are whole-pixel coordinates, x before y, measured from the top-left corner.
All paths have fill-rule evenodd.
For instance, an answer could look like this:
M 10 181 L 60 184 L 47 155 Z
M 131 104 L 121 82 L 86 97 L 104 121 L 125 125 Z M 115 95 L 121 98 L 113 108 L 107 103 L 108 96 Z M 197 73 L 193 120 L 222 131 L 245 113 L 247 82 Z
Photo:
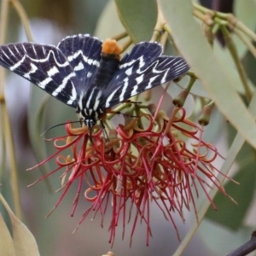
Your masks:
M 230 126 L 228 134 L 231 140 L 234 139 L 235 133 L 235 129 Z M 247 215 L 247 210 L 251 207 L 253 202 L 256 182 L 253 171 L 253 168 L 255 168 L 255 150 L 247 143 L 243 144 L 239 154 L 237 154 L 236 165 L 239 168 L 239 172 L 237 172 L 233 178 L 240 183 L 240 185 L 228 182 L 225 184 L 224 188 L 226 192 L 237 201 L 238 205 L 233 204 L 218 193 L 214 199 L 218 207 L 218 212 L 213 212 L 212 209 L 209 209 L 207 212 L 207 218 L 219 224 L 223 224 L 232 230 L 237 230 L 241 227 Z M 232 218 L 230 218 L 230 212 L 232 212 Z

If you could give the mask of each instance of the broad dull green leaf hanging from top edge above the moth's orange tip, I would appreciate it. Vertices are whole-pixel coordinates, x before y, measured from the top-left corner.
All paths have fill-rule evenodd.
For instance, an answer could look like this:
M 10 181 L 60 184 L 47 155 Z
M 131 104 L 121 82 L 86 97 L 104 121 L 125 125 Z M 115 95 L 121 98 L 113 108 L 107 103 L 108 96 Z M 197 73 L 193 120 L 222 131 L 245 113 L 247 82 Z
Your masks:
M 134 43 L 149 41 L 157 20 L 154 0 L 115 0 L 119 19 Z

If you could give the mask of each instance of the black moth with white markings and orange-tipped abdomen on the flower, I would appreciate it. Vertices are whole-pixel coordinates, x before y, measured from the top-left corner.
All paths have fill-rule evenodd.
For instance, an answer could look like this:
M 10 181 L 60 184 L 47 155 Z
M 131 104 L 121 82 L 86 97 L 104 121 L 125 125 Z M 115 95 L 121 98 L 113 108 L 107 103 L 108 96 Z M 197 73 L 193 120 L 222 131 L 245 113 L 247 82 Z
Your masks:
M 91 129 L 108 108 L 189 70 L 182 57 L 162 55 L 162 46 L 142 42 L 120 57 L 115 40 L 103 43 L 90 35 L 74 35 L 55 47 L 18 43 L 0 46 L 0 65 L 76 108 Z

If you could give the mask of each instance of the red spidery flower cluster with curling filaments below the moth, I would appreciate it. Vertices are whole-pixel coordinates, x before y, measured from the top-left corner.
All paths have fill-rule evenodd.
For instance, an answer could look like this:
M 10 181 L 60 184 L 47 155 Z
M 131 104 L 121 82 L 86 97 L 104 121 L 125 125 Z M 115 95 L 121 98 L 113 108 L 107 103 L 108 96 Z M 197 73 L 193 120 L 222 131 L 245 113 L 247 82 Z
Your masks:
M 108 134 L 101 128 L 90 132 L 86 126 L 73 128 L 68 123 L 66 131 L 66 136 L 53 139 L 55 154 L 39 164 L 52 158 L 57 162 L 58 167 L 45 177 L 62 170 L 63 192 L 55 207 L 78 180 L 72 215 L 81 193 L 91 206 L 79 224 L 91 211 L 99 212 L 103 223 L 111 205 L 110 243 L 114 241 L 119 222 L 125 229 L 127 220 L 135 216 L 131 238 L 137 222 L 143 221 L 147 226 L 148 244 L 152 201 L 177 230 L 172 212 L 178 212 L 183 219 L 184 207 L 190 209 L 192 204 L 196 214 L 193 195 L 198 195 L 198 185 L 207 196 L 207 187 L 212 185 L 226 195 L 218 182 L 218 170 L 212 165 L 218 151 L 201 140 L 202 128 L 185 118 L 184 108 L 174 108 L 170 118 L 161 110 L 154 118 L 150 113 L 127 118 L 125 125 L 118 125 Z M 87 189 L 81 191 L 84 183 Z

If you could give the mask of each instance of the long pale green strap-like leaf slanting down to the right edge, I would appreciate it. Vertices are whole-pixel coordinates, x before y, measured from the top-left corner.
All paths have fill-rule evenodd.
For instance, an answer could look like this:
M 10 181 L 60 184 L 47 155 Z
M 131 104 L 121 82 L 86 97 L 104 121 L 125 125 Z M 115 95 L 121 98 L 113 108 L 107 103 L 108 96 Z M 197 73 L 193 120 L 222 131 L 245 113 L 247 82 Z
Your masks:
M 192 3 L 186 0 L 160 0 L 167 24 L 177 48 L 201 79 L 208 94 L 225 118 L 235 126 L 248 143 L 256 148 L 256 125 L 253 115 L 232 86 L 230 73 L 212 52 L 201 26 L 193 17 Z

